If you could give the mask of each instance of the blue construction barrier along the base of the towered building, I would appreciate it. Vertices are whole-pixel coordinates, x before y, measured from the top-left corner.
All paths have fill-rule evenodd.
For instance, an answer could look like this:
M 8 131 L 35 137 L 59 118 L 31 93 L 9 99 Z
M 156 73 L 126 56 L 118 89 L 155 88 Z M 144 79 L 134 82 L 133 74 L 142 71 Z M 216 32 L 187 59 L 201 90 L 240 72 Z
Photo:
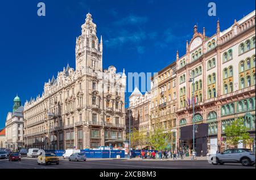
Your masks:
M 81 152 L 84 152 L 86 158 L 117 158 L 117 155 L 120 158 L 125 158 L 125 151 L 123 150 L 90 150 L 90 149 L 81 149 Z M 55 153 L 56 156 L 62 157 L 65 150 L 45 150 L 47 153 Z M 110 156 L 109 156 L 110 153 Z

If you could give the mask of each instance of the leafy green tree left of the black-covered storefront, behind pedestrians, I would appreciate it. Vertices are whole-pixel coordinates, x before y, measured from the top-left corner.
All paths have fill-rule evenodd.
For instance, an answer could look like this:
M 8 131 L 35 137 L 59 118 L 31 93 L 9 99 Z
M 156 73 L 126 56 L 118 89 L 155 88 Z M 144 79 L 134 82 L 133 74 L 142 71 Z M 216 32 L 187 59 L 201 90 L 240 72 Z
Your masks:
M 155 124 L 154 131 L 150 132 L 149 143 L 155 150 L 160 151 L 166 149 L 171 140 L 171 131 L 165 131 L 160 123 Z

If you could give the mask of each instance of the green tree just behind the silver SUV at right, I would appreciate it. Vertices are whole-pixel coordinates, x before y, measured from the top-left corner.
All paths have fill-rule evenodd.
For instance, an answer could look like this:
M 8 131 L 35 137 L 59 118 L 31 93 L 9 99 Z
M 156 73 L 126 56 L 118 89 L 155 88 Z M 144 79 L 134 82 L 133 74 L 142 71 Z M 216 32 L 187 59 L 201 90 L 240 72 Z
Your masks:
M 234 145 L 235 148 L 241 142 L 246 143 L 250 140 L 249 132 L 247 132 L 248 128 L 243 124 L 244 121 L 243 118 L 238 118 L 231 125 L 225 127 L 226 140 L 229 144 Z

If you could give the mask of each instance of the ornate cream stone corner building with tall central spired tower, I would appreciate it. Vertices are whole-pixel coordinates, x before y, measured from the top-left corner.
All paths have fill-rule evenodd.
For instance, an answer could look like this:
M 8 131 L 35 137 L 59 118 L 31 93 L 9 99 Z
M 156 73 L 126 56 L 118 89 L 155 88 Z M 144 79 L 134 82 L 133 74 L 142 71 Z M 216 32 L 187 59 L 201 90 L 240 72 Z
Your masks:
M 102 37 L 87 14 L 76 39 L 76 69 L 67 66 L 24 105 L 27 148 L 85 149 L 125 140 L 125 70 L 102 68 Z

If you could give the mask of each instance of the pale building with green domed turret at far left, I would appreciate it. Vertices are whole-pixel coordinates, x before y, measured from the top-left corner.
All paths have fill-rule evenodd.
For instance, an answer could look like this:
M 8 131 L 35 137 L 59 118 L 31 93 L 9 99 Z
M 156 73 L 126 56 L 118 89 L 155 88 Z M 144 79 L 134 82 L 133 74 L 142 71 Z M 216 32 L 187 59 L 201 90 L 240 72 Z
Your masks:
M 13 112 L 9 112 L 6 117 L 6 148 L 11 151 L 18 151 L 24 147 L 24 107 L 21 104 L 20 98 L 14 98 Z

